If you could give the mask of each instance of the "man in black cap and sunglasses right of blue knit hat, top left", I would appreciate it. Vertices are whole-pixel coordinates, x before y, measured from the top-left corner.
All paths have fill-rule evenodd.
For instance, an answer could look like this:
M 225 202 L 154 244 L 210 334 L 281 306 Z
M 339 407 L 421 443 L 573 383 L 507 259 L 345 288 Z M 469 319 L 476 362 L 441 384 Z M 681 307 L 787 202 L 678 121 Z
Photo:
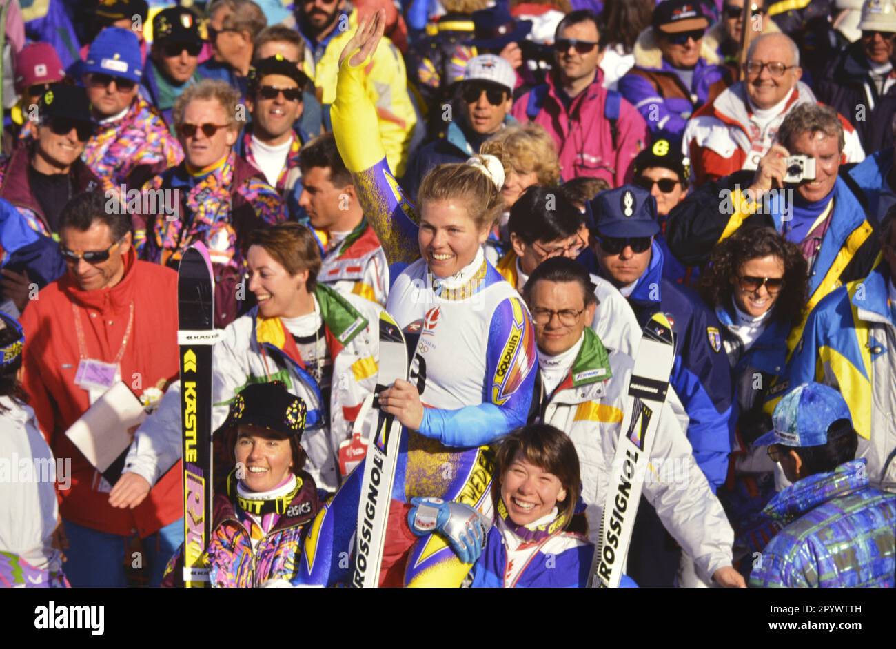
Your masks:
M 202 79 L 196 70 L 202 37 L 194 13 L 179 6 L 159 12 L 152 19 L 152 38 L 140 94 L 159 111 L 175 134 L 174 102 L 184 90 Z

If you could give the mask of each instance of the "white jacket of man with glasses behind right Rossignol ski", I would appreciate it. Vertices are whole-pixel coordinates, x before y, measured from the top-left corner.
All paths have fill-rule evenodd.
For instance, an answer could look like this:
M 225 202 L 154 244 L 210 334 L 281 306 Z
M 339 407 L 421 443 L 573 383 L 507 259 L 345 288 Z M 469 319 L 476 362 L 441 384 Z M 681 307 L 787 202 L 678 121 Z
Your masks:
M 612 465 L 634 361 L 626 354 L 607 353 L 590 329 L 584 336 L 572 370 L 544 406 L 542 422 L 565 431 L 579 453 L 589 539 L 597 542 L 608 482 L 616 474 Z M 668 404 L 656 434 L 642 493 L 694 559 L 698 575 L 711 581 L 716 570 L 732 563 L 734 531 Z

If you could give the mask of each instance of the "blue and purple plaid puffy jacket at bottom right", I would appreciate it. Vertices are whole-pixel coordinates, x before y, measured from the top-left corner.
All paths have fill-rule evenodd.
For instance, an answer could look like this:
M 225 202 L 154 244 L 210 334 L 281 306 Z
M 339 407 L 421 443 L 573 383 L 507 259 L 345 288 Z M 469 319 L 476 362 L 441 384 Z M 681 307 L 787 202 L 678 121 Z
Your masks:
M 896 494 L 868 485 L 865 460 L 791 484 L 765 513 L 788 525 L 765 546 L 751 586 L 893 587 Z

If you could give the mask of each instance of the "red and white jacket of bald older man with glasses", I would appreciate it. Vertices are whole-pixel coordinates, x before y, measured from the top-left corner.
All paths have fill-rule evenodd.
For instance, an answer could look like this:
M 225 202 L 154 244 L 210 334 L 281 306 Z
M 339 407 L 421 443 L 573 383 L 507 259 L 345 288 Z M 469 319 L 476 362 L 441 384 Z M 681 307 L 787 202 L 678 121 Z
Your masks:
M 805 83 L 797 81 L 780 115 L 760 131 L 751 120 L 753 111 L 747 103 L 743 81 L 719 93 L 719 97 L 694 113 L 685 127 L 682 152 L 691 158 L 692 183 L 700 185 L 741 169 L 755 169 L 771 149 L 778 128 L 790 110 L 808 102 L 817 102 L 817 99 Z M 865 159 L 865 150 L 856 129 L 843 115 L 840 123 L 845 136 L 842 161 L 861 162 Z

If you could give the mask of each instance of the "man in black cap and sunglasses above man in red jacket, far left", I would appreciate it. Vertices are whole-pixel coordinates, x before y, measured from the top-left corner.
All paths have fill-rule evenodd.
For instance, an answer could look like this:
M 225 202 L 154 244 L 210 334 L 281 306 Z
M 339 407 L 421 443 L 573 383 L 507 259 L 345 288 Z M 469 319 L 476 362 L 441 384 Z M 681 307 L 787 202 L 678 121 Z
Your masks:
M 21 312 L 34 286 L 43 288 L 65 271 L 59 254 L 59 218 L 65 203 L 79 192 L 99 187 L 99 178 L 82 160 L 90 137 L 90 104 L 83 88 L 53 84 L 38 103 L 36 135 L 0 158 L 0 199 L 13 204 L 18 222 L 4 221 L 4 300 Z M 21 230 L 21 236 L 13 236 Z M 29 230 L 37 233 L 28 235 Z M 23 245 L 10 248 L 16 240 Z M 8 305 L 7 305 L 8 310 Z

